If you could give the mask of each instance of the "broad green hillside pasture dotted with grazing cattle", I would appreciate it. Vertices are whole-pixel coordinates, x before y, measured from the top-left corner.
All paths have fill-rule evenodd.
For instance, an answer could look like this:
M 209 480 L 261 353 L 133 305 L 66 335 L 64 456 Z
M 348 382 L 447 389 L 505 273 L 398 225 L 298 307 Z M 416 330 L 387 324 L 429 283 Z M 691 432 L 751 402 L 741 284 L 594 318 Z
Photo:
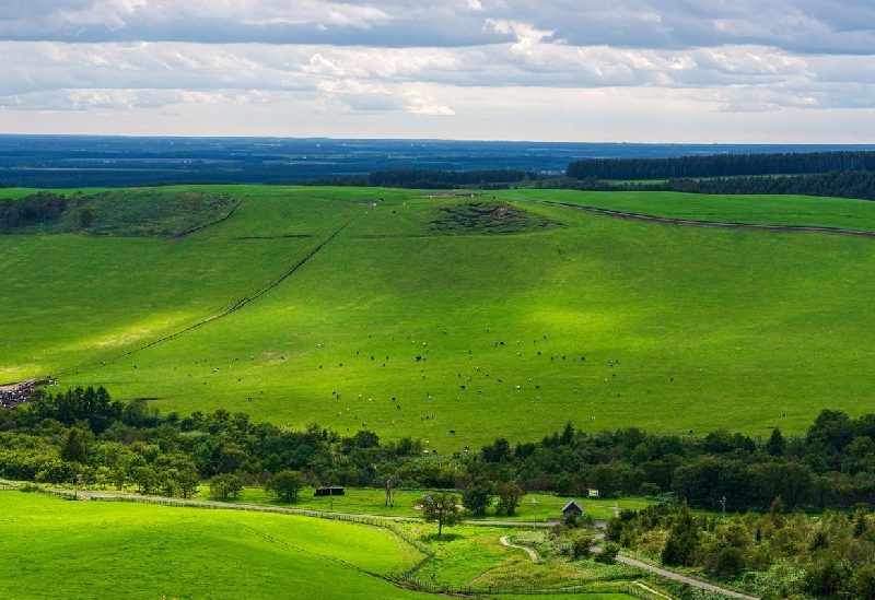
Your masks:
M 871 230 L 875 204 L 202 189 L 240 205 L 183 238 L 0 237 L 0 380 L 51 375 L 164 413 L 223 408 L 439 452 L 569 420 L 793 434 L 822 408 L 871 405 L 875 240 L 513 200 L 648 212 L 654 198 L 660 214 Z

